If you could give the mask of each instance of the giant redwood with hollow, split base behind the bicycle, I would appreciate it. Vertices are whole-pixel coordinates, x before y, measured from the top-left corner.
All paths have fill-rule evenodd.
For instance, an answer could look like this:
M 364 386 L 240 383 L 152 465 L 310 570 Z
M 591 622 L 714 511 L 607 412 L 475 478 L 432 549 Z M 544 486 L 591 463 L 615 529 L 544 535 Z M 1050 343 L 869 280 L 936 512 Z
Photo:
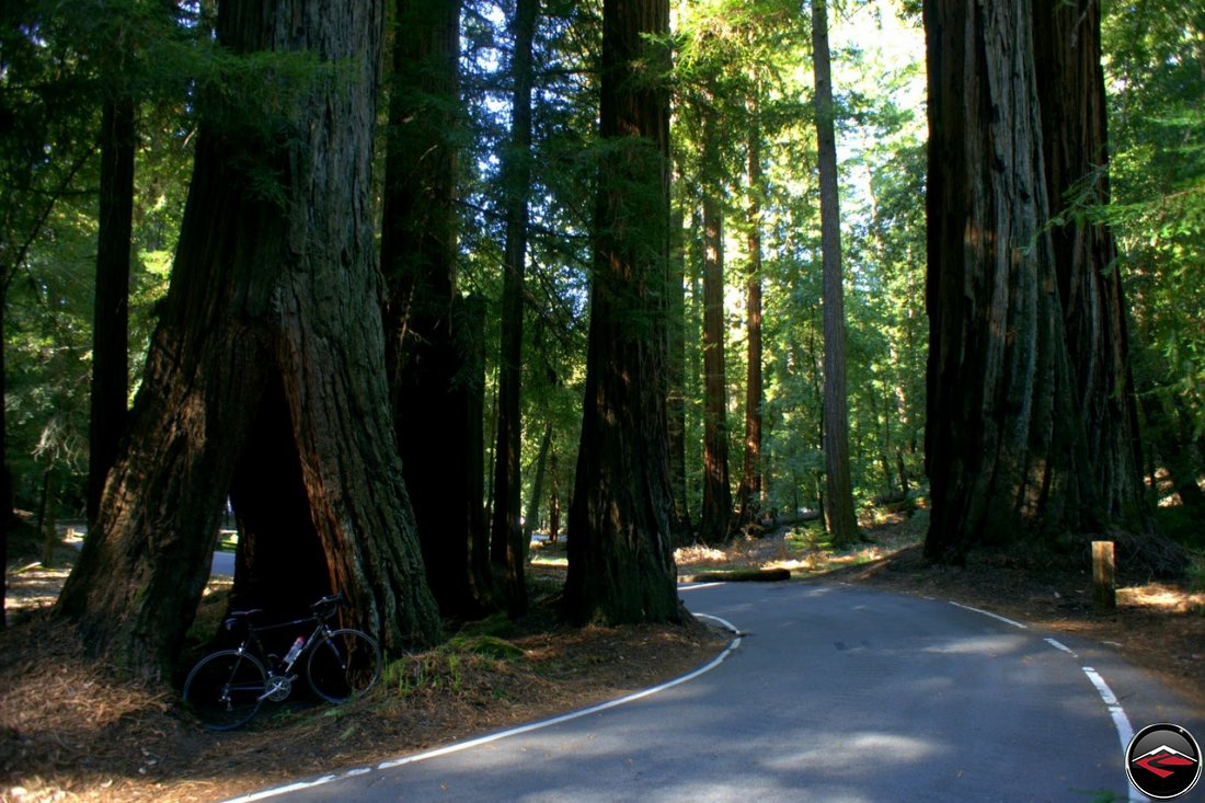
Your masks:
M 265 572 L 307 564 L 301 591 L 342 591 L 348 619 L 387 649 L 437 637 L 372 312 L 381 33 L 380 0 L 219 4 L 218 42 L 260 74 L 198 99 L 171 287 L 128 438 L 57 606 L 93 653 L 128 672 L 155 676 L 169 663 L 208 574 L 222 503 L 258 482 L 298 524 L 248 539 L 271 545 L 257 555 Z

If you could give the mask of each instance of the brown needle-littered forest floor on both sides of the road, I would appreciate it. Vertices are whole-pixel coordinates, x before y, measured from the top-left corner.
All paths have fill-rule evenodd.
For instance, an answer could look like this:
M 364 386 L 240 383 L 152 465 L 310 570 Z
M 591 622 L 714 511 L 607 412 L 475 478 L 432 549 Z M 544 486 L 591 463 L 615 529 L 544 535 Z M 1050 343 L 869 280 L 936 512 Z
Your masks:
M 677 553 L 682 578 L 704 572 L 787 569 L 825 580 L 952 599 L 1100 641 L 1205 710 L 1205 591 L 1193 581 L 1118 590 L 1115 614 L 1093 611 L 1091 578 L 1025 565 L 1010 555 L 939 568 L 919 555 L 924 511 L 866 529 L 870 541 L 834 553 L 807 529 L 739 538 L 725 550 Z M 11 555 L 13 551 L 11 550 Z M 46 610 L 72 550 L 43 569 L 27 553 L 10 567 L 0 632 L 0 799 L 219 801 L 288 779 L 363 766 L 539 720 L 668 680 L 715 657 L 728 634 L 672 626 L 558 623 L 564 573 L 558 545 L 536 551 L 531 614 L 463 628 L 449 644 L 389 664 L 364 699 L 346 707 L 282 704 L 233 733 L 208 733 L 176 691 L 116 681 L 89 662 Z M 198 621 L 214 626 L 223 584 Z

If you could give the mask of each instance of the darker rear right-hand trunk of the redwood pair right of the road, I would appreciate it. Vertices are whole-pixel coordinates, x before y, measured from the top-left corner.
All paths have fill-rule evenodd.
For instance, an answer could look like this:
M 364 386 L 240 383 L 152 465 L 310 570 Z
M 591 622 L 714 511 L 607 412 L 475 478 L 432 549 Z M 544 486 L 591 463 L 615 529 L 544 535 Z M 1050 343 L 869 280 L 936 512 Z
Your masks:
M 1034 0 L 1033 31 L 1046 200 L 1064 218 L 1051 228 L 1051 241 L 1075 414 L 1092 456 L 1095 505 L 1109 518 L 1144 529 L 1142 447 L 1117 247 L 1107 225 L 1075 210 L 1109 203 L 1100 2 Z

